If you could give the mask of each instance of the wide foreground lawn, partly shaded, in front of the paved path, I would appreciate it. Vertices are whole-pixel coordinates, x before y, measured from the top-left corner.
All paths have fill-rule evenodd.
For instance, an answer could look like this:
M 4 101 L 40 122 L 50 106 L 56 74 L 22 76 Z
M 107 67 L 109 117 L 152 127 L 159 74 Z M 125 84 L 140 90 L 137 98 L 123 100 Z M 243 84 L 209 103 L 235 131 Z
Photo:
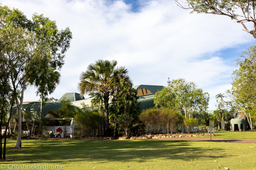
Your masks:
M 63 165 L 65 170 L 256 169 L 256 144 L 147 140 L 7 141 L 13 165 Z M 10 167 L 11 165 L 9 165 Z M 38 168 L 39 169 L 39 168 Z M 43 169 L 43 168 L 42 168 Z

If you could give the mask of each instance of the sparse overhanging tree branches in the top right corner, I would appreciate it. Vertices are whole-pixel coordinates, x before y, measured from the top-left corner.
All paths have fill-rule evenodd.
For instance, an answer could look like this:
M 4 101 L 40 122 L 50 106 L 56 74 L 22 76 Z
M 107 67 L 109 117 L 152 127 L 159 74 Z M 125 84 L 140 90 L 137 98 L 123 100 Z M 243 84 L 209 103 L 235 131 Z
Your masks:
M 230 17 L 256 38 L 256 2 L 254 0 L 175 0 L 177 6 L 190 13 L 217 14 Z M 248 23 L 251 25 L 248 26 Z M 247 26 L 246 26 L 247 25 Z M 252 30 L 249 30 L 252 27 Z

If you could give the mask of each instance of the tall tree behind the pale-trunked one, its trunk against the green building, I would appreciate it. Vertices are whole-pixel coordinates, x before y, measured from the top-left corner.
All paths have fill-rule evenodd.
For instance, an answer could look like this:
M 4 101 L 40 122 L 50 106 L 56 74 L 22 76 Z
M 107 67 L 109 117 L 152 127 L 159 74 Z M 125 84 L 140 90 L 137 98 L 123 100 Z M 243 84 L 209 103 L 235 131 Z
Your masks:
M 56 22 L 49 20 L 48 17 L 44 17 L 42 14 L 33 14 L 31 30 L 35 32 L 38 43 L 43 44 L 43 48 L 45 48 L 41 53 L 41 64 L 29 74 L 29 82 L 35 85 L 38 89 L 36 94 L 41 97 L 41 127 L 43 105 L 47 96 L 53 93 L 56 85 L 60 82 L 61 75 L 58 71 L 64 65 L 64 57 L 66 51 L 70 48 L 72 33 L 68 27 L 59 31 Z

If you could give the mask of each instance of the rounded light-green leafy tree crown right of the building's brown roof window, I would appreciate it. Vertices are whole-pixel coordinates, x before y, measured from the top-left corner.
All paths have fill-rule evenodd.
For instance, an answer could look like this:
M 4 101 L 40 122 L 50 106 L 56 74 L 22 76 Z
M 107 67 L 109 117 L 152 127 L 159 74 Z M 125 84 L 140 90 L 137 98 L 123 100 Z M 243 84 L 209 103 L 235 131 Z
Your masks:
M 164 87 L 155 94 L 154 104 L 156 107 L 171 108 L 192 119 L 198 113 L 207 111 L 209 94 L 193 82 L 177 79 L 172 80 L 170 87 Z

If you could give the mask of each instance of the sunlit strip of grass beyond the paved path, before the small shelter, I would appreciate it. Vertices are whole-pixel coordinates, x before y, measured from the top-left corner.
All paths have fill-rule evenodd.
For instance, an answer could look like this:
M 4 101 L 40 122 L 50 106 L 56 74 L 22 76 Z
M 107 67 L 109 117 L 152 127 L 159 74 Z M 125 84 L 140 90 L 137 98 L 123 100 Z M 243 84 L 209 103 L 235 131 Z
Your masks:
M 198 136 L 198 138 L 209 138 L 209 136 Z M 241 132 L 217 131 L 212 138 L 222 139 L 256 139 L 256 130 L 247 130 Z

